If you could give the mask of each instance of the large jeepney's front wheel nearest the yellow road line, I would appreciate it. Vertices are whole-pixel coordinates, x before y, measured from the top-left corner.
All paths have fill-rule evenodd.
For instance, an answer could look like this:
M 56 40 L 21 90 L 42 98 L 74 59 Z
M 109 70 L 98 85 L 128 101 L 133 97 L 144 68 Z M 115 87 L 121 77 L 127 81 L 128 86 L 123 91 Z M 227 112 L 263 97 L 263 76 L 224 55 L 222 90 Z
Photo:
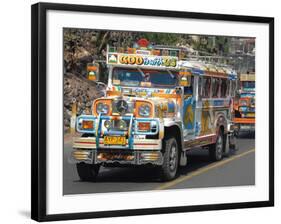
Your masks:
M 169 181 L 176 177 L 179 164 L 179 151 L 177 140 L 170 137 L 164 140 L 163 164 L 160 167 L 162 181 Z

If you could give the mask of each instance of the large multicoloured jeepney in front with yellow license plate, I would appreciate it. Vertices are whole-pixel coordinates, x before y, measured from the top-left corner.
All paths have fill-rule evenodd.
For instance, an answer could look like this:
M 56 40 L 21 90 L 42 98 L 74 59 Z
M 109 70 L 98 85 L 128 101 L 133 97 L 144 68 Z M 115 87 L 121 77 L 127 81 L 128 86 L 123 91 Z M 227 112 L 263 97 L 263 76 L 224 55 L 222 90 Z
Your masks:
M 72 161 L 82 180 L 94 180 L 101 165 L 155 166 L 171 180 L 188 150 L 203 147 L 221 160 L 235 147 L 236 73 L 179 57 L 175 49 L 108 48 L 106 95 L 93 102 L 91 115 L 77 117 L 82 135 Z

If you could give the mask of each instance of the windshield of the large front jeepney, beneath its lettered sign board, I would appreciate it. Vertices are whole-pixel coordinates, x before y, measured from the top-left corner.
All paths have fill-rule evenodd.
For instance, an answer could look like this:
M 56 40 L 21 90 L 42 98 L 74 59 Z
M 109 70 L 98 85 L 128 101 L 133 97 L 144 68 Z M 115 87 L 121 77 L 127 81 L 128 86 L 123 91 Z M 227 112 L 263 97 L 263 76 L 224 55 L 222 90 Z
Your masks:
M 177 86 L 178 79 L 174 71 L 114 68 L 112 83 L 120 86 L 172 88 Z

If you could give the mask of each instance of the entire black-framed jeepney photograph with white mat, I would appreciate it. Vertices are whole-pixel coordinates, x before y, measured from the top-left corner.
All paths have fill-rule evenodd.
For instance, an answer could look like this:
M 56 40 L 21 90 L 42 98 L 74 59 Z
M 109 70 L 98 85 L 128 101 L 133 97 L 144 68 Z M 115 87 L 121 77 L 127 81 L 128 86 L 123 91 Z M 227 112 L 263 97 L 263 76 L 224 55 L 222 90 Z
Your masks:
M 32 5 L 32 219 L 274 205 L 274 18 Z

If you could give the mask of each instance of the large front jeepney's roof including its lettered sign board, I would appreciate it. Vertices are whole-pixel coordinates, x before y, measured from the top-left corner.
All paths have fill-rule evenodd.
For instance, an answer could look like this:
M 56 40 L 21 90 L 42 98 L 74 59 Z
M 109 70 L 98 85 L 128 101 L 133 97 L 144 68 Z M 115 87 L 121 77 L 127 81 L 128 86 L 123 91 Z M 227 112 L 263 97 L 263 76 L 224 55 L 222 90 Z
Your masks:
M 107 65 L 114 67 L 157 69 L 157 70 L 190 70 L 193 75 L 224 77 L 230 80 L 237 79 L 237 73 L 227 65 L 216 65 L 196 60 L 179 60 L 177 56 L 161 55 L 157 46 L 148 48 L 122 48 L 121 50 L 107 46 Z M 158 49 L 157 49 L 158 48 Z M 177 49 L 166 46 L 170 52 Z M 178 49 L 177 49 L 178 50 Z

